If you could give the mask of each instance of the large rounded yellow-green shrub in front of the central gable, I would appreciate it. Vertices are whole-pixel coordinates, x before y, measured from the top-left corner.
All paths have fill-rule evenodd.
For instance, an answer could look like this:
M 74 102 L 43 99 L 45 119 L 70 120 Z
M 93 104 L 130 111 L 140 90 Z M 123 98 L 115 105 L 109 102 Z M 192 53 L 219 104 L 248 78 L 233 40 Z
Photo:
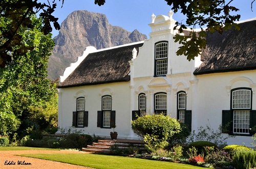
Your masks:
M 167 146 L 167 139 L 181 130 L 176 119 L 162 114 L 139 117 L 132 121 L 132 129 L 144 139 L 145 148 L 151 152 Z

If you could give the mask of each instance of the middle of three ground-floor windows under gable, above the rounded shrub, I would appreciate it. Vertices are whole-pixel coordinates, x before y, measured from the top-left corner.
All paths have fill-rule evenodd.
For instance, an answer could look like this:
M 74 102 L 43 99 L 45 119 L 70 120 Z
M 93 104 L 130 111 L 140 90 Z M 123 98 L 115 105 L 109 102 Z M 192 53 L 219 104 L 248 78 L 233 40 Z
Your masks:
M 167 95 L 166 93 L 155 94 L 155 114 L 167 115 Z

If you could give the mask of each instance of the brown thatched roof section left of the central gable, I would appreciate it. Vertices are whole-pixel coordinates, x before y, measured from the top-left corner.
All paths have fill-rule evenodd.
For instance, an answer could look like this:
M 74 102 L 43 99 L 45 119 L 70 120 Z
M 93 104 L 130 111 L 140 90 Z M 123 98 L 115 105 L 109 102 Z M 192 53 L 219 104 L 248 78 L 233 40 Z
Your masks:
M 58 88 L 129 81 L 132 51 L 134 48 L 139 51 L 142 45 L 143 42 L 88 54 Z

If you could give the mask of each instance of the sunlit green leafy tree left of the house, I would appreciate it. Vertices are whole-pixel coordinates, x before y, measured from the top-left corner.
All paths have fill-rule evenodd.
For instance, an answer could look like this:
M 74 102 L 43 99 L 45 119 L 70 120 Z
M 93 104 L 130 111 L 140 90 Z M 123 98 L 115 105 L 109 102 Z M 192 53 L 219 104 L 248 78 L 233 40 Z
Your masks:
M 20 44 L 33 48 L 26 53 L 13 46 L 9 53 L 12 60 L 0 68 L 0 130 L 10 134 L 30 116 L 30 106 L 45 106 L 56 94 L 56 86 L 47 79 L 49 55 L 54 46 L 51 34 L 44 35 L 42 20 L 30 16 L 31 28 L 20 27 L 17 31 Z M 0 27 L 8 23 L 1 22 Z

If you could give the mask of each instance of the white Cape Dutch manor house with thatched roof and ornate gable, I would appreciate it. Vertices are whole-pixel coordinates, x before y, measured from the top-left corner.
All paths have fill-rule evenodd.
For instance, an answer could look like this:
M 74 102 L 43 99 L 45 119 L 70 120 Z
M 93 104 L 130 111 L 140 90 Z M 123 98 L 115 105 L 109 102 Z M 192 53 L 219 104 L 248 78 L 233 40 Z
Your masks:
M 191 130 L 227 126 L 228 144 L 250 146 L 256 125 L 256 18 L 241 30 L 207 35 L 195 60 L 177 56 L 175 20 L 153 16 L 150 39 L 97 50 L 89 46 L 58 86 L 58 127 L 84 134 L 139 139 L 135 114 L 176 118 Z M 188 31 L 184 32 L 185 34 Z M 226 134 L 226 133 L 223 133 Z

